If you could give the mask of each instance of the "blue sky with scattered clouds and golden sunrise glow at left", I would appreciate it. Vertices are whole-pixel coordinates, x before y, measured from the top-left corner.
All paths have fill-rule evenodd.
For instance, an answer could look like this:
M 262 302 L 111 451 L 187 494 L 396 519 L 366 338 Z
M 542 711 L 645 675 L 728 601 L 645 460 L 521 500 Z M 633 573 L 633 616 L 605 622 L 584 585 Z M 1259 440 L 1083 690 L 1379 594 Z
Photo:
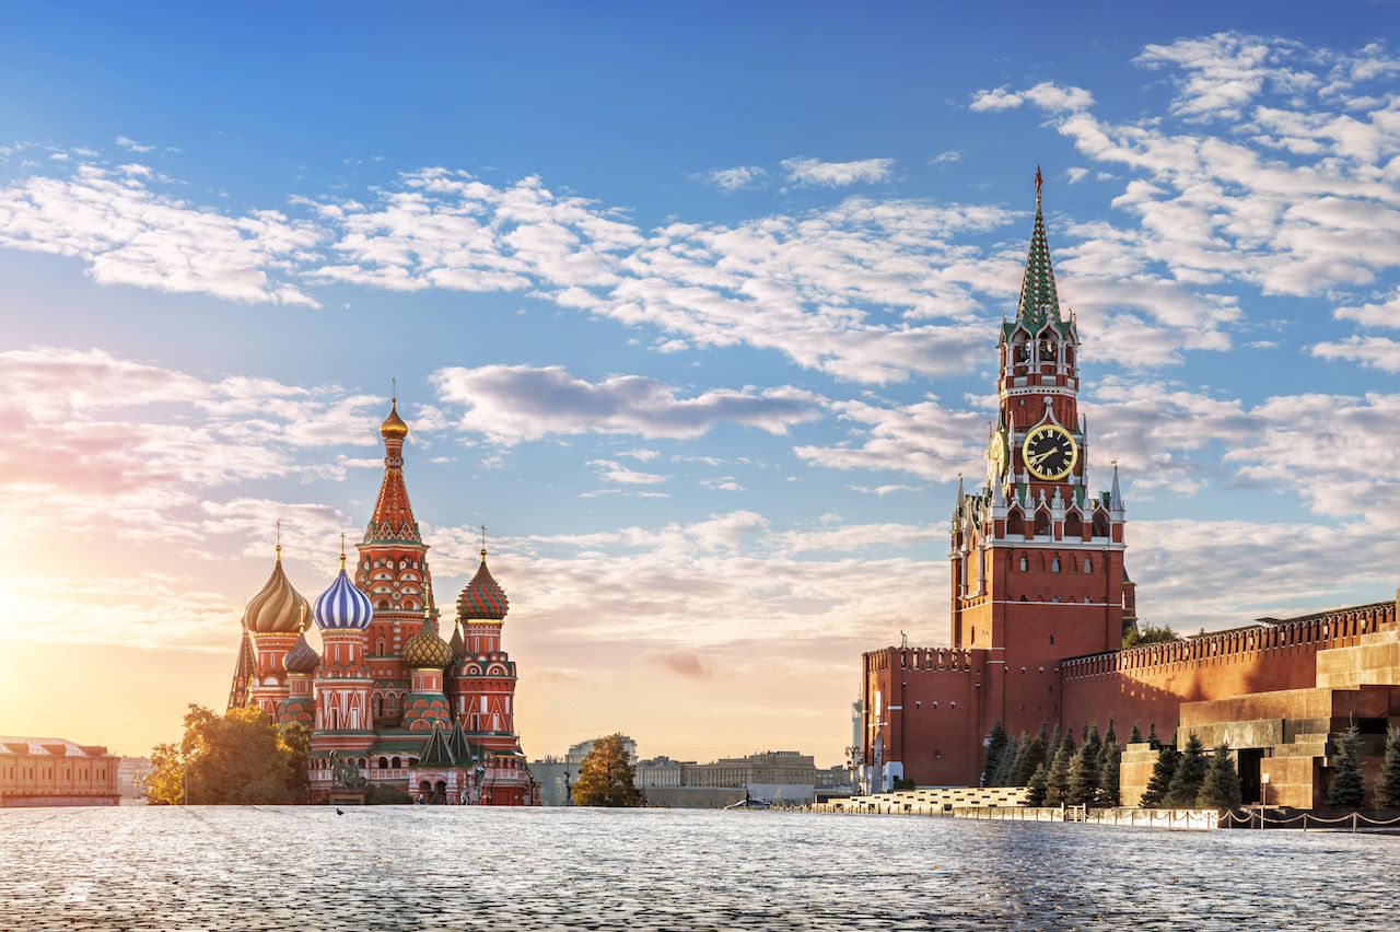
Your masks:
M 1142 620 L 1393 599 L 1400 6 L 973 6 L 6 4 L 0 733 L 221 708 L 396 379 L 529 757 L 837 763 L 948 644 L 1037 165 Z

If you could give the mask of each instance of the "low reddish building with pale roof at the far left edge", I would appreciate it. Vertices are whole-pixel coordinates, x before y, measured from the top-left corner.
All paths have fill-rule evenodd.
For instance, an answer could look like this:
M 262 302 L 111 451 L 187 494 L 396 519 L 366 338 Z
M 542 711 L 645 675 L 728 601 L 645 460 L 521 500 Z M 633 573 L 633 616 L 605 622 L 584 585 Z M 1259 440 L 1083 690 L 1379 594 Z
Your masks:
M 115 806 L 118 758 L 62 737 L 0 737 L 0 807 Z

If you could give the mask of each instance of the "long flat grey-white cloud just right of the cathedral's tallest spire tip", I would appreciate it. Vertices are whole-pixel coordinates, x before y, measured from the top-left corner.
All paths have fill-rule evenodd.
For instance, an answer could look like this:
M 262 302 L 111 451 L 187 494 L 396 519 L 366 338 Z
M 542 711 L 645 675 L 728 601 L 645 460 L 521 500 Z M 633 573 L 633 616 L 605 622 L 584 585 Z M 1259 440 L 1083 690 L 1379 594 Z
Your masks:
M 680 397 L 675 386 L 640 375 L 588 382 L 553 365 L 484 365 L 438 369 L 433 383 L 444 403 L 466 410 L 458 427 L 497 444 L 550 434 L 637 434 L 700 437 L 722 423 L 770 434 L 822 417 L 819 395 L 780 386 L 708 389 Z

